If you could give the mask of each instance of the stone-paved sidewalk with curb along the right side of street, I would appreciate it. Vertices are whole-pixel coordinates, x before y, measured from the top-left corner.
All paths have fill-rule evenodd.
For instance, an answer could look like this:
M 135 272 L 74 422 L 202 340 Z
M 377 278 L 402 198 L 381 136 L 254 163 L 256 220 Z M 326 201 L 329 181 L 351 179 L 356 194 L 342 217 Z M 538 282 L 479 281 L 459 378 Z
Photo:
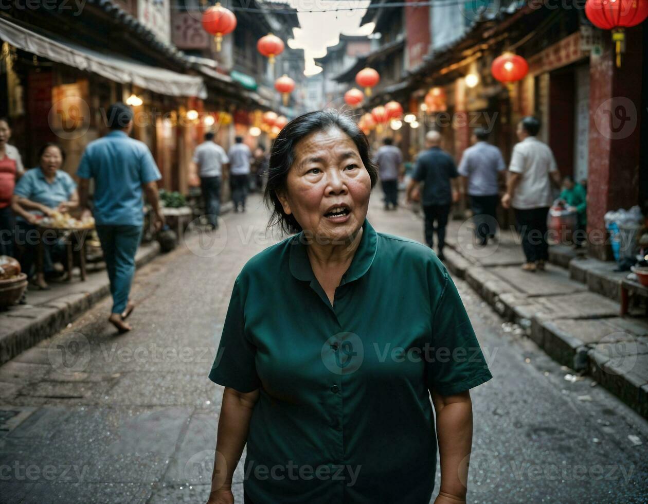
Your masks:
M 514 231 L 503 230 L 483 248 L 474 246 L 472 233 L 470 220 L 449 223 L 448 268 L 551 358 L 591 374 L 648 417 L 648 323 L 619 316 L 618 285 L 627 273 L 561 246 L 550 255 L 564 267 L 528 273 L 520 269 L 524 255 Z

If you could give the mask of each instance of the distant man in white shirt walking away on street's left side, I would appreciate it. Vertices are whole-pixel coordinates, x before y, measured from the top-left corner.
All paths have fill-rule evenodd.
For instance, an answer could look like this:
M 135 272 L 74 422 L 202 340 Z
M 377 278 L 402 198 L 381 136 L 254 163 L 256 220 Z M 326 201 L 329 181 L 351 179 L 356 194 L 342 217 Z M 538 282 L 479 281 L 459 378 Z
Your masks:
M 200 176 L 200 189 L 211 229 L 218 228 L 220 214 L 220 181 L 223 166 L 229 163 L 224 148 L 214 142 L 214 133 L 205 133 L 205 141 L 196 147 L 192 159 Z

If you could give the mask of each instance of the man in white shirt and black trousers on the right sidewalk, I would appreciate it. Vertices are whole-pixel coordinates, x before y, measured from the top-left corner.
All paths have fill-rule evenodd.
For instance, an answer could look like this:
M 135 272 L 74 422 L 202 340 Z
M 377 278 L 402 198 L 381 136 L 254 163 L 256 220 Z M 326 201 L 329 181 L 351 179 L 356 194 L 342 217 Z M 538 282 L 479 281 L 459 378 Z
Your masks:
M 551 206 L 551 181 L 560 187 L 561 174 L 550 147 L 535 135 L 540 131 L 540 121 L 535 117 L 522 119 L 516 130 L 520 143 L 513 148 L 506 194 L 502 196 L 504 208 L 515 209 L 518 233 L 526 263 L 525 271 L 544 270 L 549 258 L 547 244 L 547 214 Z

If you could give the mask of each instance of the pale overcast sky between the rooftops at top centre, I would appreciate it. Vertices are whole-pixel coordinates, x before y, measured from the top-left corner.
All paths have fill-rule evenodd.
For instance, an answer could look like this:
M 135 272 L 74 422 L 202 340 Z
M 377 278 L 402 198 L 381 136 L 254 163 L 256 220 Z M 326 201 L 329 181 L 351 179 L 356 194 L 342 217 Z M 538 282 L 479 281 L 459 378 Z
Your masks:
M 373 31 L 373 23 L 360 29 L 360 20 L 366 12 L 369 0 L 275 0 L 296 8 L 299 14 L 301 28 L 294 30 L 294 39 L 288 45 L 294 49 L 303 49 L 306 56 L 306 71 L 308 75 L 320 70 L 313 58 L 321 58 L 326 54 L 327 47 L 336 45 L 340 34 L 369 35 Z M 301 12 L 303 10 L 330 10 L 334 8 L 358 8 L 349 12 Z

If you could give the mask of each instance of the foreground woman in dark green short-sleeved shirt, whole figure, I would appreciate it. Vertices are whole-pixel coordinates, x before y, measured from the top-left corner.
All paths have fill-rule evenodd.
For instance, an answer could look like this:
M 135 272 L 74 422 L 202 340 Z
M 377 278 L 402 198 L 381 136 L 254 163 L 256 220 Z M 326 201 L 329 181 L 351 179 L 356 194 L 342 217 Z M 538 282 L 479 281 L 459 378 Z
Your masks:
M 448 271 L 367 220 L 376 168 L 353 120 L 275 140 L 265 198 L 292 236 L 238 275 L 209 378 L 225 387 L 210 504 L 465 502 L 469 389 L 489 380 Z M 436 417 L 436 419 L 435 419 Z

